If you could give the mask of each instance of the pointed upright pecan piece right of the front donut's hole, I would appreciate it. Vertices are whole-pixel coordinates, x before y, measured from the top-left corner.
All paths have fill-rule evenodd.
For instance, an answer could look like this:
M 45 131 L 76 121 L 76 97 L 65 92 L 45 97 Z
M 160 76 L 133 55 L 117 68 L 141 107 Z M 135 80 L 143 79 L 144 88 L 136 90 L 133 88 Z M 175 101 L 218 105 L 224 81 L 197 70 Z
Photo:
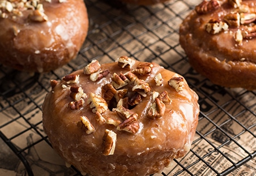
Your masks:
M 147 117 L 151 119 L 163 117 L 165 112 L 165 104 L 159 98 L 155 98 L 155 101 L 150 106 Z

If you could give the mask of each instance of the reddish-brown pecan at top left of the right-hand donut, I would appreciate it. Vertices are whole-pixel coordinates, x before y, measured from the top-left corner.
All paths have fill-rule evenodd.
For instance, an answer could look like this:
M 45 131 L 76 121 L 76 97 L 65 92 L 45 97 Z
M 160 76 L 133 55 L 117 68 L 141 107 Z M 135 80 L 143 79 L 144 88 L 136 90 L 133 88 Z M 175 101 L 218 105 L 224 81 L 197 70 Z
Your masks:
M 195 6 L 195 11 L 198 14 L 207 14 L 208 12 L 217 10 L 220 7 L 220 3 L 217 0 L 206 1 L 204 0 L 199 5 Z

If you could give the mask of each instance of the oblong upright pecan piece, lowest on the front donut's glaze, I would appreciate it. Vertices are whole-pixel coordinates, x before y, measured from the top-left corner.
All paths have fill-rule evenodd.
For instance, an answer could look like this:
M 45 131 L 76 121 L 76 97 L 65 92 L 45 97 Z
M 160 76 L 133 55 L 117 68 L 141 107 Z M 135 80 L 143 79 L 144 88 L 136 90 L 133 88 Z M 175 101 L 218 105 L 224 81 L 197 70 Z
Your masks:
M 114 154 L 114 150 L 116 148 L 117 134 L 112 130 L 105 130 L 103 136 L 103 154 L 105 156 Z

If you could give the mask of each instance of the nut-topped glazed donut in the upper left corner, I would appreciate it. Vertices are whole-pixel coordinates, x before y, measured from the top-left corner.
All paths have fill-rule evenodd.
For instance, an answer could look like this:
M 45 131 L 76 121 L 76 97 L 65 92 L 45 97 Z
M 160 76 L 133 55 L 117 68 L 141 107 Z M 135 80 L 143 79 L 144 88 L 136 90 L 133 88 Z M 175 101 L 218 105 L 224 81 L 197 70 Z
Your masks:
M 0 63 L 48 72 L 78 54 L 88 31 L 87 9 L 83 0 L 3 0 L 0 27 Z

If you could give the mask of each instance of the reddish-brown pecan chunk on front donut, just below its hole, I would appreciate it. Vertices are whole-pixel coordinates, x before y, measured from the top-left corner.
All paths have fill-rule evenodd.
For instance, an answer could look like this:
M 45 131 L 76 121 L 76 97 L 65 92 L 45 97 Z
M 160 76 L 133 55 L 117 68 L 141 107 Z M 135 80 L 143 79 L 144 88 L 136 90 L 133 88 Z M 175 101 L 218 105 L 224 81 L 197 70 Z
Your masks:
M 138 114 L 132 114 L 129 118 L 125 119 L 120 125 L 117 126 L 117 130 L 123 130 L 135 134 L 139 130 L 139 123 L 137 121 Z

